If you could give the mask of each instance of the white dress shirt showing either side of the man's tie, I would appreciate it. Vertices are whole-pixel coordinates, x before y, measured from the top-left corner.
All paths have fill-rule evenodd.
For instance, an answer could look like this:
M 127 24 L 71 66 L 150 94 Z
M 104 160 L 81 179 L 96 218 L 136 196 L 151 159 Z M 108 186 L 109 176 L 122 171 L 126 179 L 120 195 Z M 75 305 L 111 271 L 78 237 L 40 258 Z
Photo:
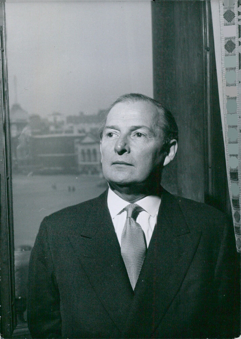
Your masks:
M 156 225 L 161 199 L 157 196 L 147 196 L 136 201 L 135 203 L 144 210 L 138 214 L 136 222 L 138 222 L 138 224 L 140 224 L 141 228 L 143 229 L 148 247 L 154 227 Z M 128 201 L 120 198 L 109 188 L 107 195 L 107 205 L 120 246 L 121 235 L 126 221 L 126 211 L 123 211 L 123 208 L 129 204 L 130 203 Z

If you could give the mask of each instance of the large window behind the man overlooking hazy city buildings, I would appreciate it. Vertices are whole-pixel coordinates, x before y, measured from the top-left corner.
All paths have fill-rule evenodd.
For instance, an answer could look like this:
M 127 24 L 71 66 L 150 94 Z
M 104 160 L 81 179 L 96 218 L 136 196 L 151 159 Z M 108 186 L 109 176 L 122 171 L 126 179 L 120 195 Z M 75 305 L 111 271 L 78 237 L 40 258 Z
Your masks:
M 151 6 L 63 1 L 4 7 L 1 334 L 27 338 L 27 266 L 41 220 L 106 188 L 100 163 L 79 163 L 97 161 L 95 150 L 81 151 L 81 140 L 98 140 L 99 113 L 119 95 L 153 95 Z

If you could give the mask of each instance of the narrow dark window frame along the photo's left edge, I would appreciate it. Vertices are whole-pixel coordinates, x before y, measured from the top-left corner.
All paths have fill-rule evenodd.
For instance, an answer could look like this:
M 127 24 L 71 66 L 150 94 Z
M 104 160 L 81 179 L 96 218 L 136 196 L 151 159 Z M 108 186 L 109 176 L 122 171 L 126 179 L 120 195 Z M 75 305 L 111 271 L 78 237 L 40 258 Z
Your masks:
M 0 2 L 0 11 L 3 12 L 3 26 L 0 26 L 0 144 L 2 145 L 2 155 L 0 161 L 0 334 L 4 338 L 31 338 L 27 324 L 17 324 L 17 312 L 15 309 L 13 196 L 10 155 L 7 62 L 5 54 L 6 35 L 4 2 Z

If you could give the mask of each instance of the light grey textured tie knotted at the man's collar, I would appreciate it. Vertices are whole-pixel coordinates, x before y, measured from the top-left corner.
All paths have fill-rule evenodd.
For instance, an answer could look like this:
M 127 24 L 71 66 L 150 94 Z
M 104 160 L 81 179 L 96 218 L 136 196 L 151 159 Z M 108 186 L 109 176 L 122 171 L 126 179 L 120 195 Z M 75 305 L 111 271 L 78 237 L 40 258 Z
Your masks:
M 142 210 L 141 207 L 137 204 L 130 204 L 125 207 L 125 210 L 127 217 L 121 236 L 121 254 L 134 290 L 147 247 L 143 230 L 134 218 L 138 215 L 137 212 Z

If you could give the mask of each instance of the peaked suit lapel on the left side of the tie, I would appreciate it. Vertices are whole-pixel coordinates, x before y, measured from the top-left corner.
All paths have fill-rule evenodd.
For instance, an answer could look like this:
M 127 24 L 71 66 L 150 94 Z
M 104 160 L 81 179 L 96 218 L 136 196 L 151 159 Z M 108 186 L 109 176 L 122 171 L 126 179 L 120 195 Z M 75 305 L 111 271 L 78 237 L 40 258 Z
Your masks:
M 68 238 L 96 295 L 122 330 L 134 294 L 107 207 L 106 192 L 95 199 Z

